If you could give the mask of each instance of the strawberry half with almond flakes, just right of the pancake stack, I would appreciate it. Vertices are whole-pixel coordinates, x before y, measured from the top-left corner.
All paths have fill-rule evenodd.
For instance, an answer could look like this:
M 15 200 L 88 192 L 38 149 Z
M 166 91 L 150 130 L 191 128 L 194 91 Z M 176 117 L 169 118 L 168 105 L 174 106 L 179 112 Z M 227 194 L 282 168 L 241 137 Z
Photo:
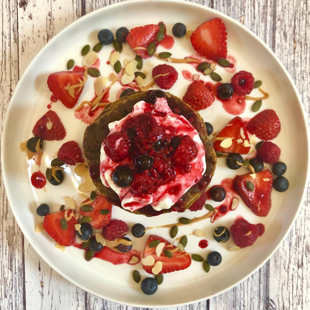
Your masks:
M 224 138 L 231 138 L 232 144 L 225 147 Z M 221 146 L 222 143 L 222 146 Z M 224 144 L 224 145 L 223 145 Z M 229 145 L 229 143 L 227 144 Z M 247 154 L 250 151 L 249 136 L 241 117 L 233 118 L 216 136 L 213 144 L 215 151 L 224 153 Z

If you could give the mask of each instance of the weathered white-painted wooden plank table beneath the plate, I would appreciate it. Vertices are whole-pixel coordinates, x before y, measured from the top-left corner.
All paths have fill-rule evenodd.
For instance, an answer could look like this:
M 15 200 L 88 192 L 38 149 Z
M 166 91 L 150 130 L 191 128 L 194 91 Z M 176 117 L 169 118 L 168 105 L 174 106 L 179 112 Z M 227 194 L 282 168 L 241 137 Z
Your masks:
M 2 0 L 0 2 L 0 139 L 17 81 L 61 29 L 118 0 Z M 193 0 L 244 24 L 288 69 L 310 119 L 310 1 Z M 281 104 L 281 103 L 279 103 Z M 300 154 L 302 159 L 302 154 Z M 1 168 L 1 166 L 0 166 Z M 133 309 L 77 288 L 42 261 L 24 238 L 1 180 L 0 309 Z M 310 309 L 310 187 L 288 237 L 259 271 L 225 294 L 180 309 Z

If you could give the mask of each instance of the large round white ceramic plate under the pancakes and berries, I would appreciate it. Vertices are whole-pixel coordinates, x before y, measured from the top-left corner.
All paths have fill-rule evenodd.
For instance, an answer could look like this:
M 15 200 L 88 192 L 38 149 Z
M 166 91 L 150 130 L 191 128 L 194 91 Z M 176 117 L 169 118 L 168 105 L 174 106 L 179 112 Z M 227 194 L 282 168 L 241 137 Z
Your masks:
M 218 267 L 212 267 L 209 273 L 203 271 L 201 263 L 193 261 L 192 265 L 184 271 L 165 274 L 164 282 L 159 286 L 157 293 L 147 296 L 131 279 L 132 270 L 134 268 L 142 270 L 141 266 L 134 268 L 130 265 L 114 266 L 99 259 L 86 262 L 83 251 L 70 247 L 62 252 L 55 248 L 55 242 L 45 232 L 35 234 L 34 227 L 39 220 L 42 220 L 35 215 L 38 204 L 47 202 L 52 210 L 56 211 L 63 203 L 63 197 L 71 195 L 74 195 L 76 201 L 80 203 L 83 199 L 78 196 L 76 187 L 81 180 L 76 178 L 70 168 L 66 168 L 68 175 L 61 186 L 53 187 L 47 184 L 46 193 L 42 189 L 35 190 L 30 184 L 29 176 L 38 167 L 26 161 L 25 153 L 19 151 L 19 143 L 32 136 L 33 125 L 47 112 L 51 95 L 46 85 L 47 76 L 51 72 L 65 70 L 65 64 L 70 58 L 81 65 L 82 47 L 86 44 L 95 45 L 96 35 L 100 29 L 108 28 L 115 33 L 121 26 L 131 29 L 135 26 L 164 21 L 168 34 L 171 34 L 172 25 L 176 22 L 183 22 L 187 29 L 195 29 L 202 22 L 217 16 L 226 24 L 228 54 L 236 57 L 237 71 L 252 72 L 256 79 L 263 81 L 263 89 L 270 93 L 270 98 L 263 101 L 263 108 L 274 109 L 281 120 L 281 132 L 275 142 L 281 147 L 281 160 L 288 166 L 285 176 L 290 181 L 290 188 L 285 193 L 272 191 L 272 208 L 265 218 L 255 216 L 240 203 L 237 210 L 228 213 L 213 224 L 210 220 L 205 220 L 181 227 L 179 235 L 189 234 L 193 228 L 203 228 L 207 233 L 206 239 L 209 241 L 209 246 L 206 249 L 198 247 L 198 241 L 201 238 L 189 236 L 186 248 L 189 252 L 206 257 L 210 250 L 218 250 L 222 254 L 223 261 Z M 194 53 L 185 38 L 176 39 L 175 42 L 173 49 L 175 57 Z M 105 64 L 110 51 L 110 47 L 104 47 L 100 52 L 100 71 L 104 75 L 108 75 L 110 70 L 110 67 Z M 164 49 L 160 47 L 158 51 L 164 51 Z M 123 53 L 122 55 L 127 55 L 127 58 L 134 58 L 133 52 L 128 48 L 125 48 Z M 148 61 L 144 61 L 144 70 L 152 69 L 147 66 Z M 160 63 L 153 58 L 152 62 L 154 65 Z M 176 68 L 179 72 L 186 69 L 193 74 L 197 73 L 188 64 L 180 64 Z M 230 81 L 232 73 L 227 73 L 222 68 L 217 72 L 222 75 L 224 81 Z M 209 77 L 203 78 L 206 81 L 209 79 Z M 189 83 L 180 74 L 180 78 L 170 92 L 182 98 Z M 90 84 L 88 88 L 85 86 L 79 102 L 89 99 L 89 95 L 93 93 L 93 86 Z M 111 101 L 115 100 L 118 88 L 119 85 L 115 85 L 111 90 L 109 97 Z M 255 90 L 252 94 L 259 95 L 259 91 Z M 248 101 L 241 117 L 254 115 L 250 109 L 251 105 L 252 101 Z M 81 143 L 86 125 L 75 119 L 73 111 L 65 108 L 59 101 L 52 105 L 52 110 L 64 123 L 67 131 L 65 140 L 74 139 Z M 210 108 L 201 111 L 201 115 L 214 125 L 215 131 L 221 129 L 233 117 L 224 111 L 219 101 L 215 101 Z M 45 143 L 41 171 L 46 170 L 52 156 L 63 142 Z M 5 135 L 2 141 L 2 165 L 8 199 L 15 218 L 30 244 L 53 269 L 82 289 L 104 299 L 140 307 L 176 306 L 206 299 L 228 290 L 255 272 L 277 249 L 289 231 L 303 197 L 308 171 L 307 128 L 296 88 L 288 73 L 269 48 L 241 24 L 219 12 L 189 2 L 127 1 L 104 7 L 77 20 L 48 42 L 38 53 L 20 79 L 7 111 Z M 219 184 L 224 177 L 234 177 L 235 173 L 235 170 L 225 167 L 223 159 L 219 159 L 211 185 Z M 244 174 L 247 171 L 241 168 L 237 173 Z M 211 204 L 215 205 L 214 202 Z M 205 213 L 201 210 L 196 212 L 195 216 Z M 212 238 L 212 231 L 221 224 L 230 227 L 239 214 L 252 223 L 263 223 L 266 232 L 250 248 L 231 252 L 228 248 L 233 246 L 232 240 L 222 245 L 218 244 Z M 189 210 L 182 215 L 194 216 Z M 158 223 L 174 223 L 179 218 L 179 214 L 146 218 L 114 207 L 113 217 L 126 220 L 130 226 L 137 222 L 145 226 L 155 226 Z M 169 238 L 167 228 L 153 232 Z M 138 241 L 136 248 L 143 247 L 146 235 Z M 146 276 L 143 270 L 141 274 L 143 277 Z

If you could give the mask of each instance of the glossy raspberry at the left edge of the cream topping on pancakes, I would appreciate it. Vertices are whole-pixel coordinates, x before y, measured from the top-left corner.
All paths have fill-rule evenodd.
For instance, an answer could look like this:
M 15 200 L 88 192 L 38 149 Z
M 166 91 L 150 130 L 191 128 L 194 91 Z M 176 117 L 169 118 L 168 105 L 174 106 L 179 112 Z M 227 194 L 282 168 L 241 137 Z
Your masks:
M 130 142 L 125 133 L 110 133 L 104 139 L 104 151 L 114 162 L 121 162 L 129 153 Z

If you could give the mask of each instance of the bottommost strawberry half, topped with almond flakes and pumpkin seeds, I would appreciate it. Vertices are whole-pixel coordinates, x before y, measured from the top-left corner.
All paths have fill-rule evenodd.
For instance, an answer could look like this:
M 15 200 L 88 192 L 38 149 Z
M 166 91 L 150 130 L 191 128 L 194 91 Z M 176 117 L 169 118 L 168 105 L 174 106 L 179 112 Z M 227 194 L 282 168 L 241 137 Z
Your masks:
M 172 258 L 168 258 L 166 255 L 164 255 L 163 251 L 161 255 L 158 257 L 156 254 L 156 246 L 153 248 L 150 248 L 148 245 L 153 240 L 159 240 L 160 242 L 165 242 L 166 246 L 164 249 L 169 250 L 172 254 Z M 151 255 L 154 257 L 155 262 L 161 261 L 162 262 L 162 271 L 160 273 L 167 273 L 167 272 L 173 272 L 177 270 L 183 270 L 189 267 L 189 265 L 192 262 L 192 258 L 190 254 L 186 253 L 185 251 L 177 250 L 174 252 L 175 248 L 177 248 L 174 245 L 171 245 L 169 241 L 166 239 L 156 236 L 156 235 L 150 235 L 148 237 L 148 240 L 146 241 L 143 257 L 146 257 L 148 255 Z M 142 265 L 144 270 L 150 274 L 153 274 L 152 268 L 153 266 L 144 266 Z

